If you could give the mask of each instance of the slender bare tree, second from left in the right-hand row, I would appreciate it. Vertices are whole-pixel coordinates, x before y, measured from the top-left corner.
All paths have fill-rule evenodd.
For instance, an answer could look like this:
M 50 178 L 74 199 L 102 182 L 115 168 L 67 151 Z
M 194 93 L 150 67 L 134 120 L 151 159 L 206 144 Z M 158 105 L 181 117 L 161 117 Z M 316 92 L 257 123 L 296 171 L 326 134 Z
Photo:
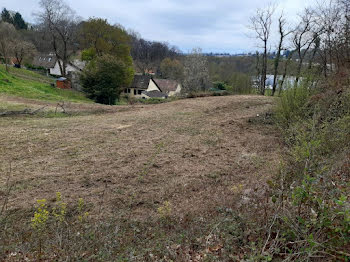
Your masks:
M 277 48 L 277 54 L 274 61 L 274 77 L 273 77 L 273 85 L 272 85 L 272 96 L 275 95 L 276 88 L 277 88 L 277 78 L 278 78 L 278 68 L 281 60 L 281 52 L 285 50 L 283 47 L 285 38 L 291 34 L 292 30 L 286 30 L 286 24 L 287 21 L 283 15 L 283 13 L 280 15 L 278 19 L 278 30 L 279 30 L 279 43 Z

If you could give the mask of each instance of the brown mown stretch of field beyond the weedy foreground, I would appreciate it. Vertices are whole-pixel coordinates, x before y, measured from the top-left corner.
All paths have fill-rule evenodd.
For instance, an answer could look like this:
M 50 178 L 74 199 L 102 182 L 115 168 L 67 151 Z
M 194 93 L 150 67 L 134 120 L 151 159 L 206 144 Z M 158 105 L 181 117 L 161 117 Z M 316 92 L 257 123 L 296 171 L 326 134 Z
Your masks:
M 273 99 L 227 96 L 113 107 L 66 118 L 0 119 L 0 197 L 11 163 L 12 208 L 79 197 L 91 213 L 152 216 L 164 202 L 179 216 L 234 207 L 235 191 L 259 188 L 276 169 L 272 126 L 249 118 Z M 92 105 L 93 106 L 93 105 Z

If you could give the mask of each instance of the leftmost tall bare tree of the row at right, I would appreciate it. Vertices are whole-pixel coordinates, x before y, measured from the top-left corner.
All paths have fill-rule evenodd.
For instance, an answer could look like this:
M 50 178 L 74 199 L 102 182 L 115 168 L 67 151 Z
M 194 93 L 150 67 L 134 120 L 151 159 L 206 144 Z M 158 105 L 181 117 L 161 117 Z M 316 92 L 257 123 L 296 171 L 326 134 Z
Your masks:
M 270 5 L 265 9 L 257 9 L 256 14 L 250 18 L 250 29 L 255 32 L 255 37 L 263 43 L 262 48 L 264 51 L 259 81 L 260 93 L 262 95 L 265 94 L 268 41 L 270 39 L 272 16 L 274 11 L 275 7 Z

